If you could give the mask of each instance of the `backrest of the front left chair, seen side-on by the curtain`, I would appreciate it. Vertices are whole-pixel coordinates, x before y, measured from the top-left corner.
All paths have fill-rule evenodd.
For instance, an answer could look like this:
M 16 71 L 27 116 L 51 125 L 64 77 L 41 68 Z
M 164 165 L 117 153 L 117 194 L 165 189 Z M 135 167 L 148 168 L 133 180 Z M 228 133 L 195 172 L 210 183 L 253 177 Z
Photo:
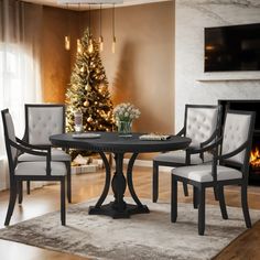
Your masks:
M 9 109 L 2 110 L 1 113 L 2 113 L 3 134 L 4 134 L 9 167 L 10 172 L 13 172 L 17 161 L 18 150 L 10 145 L 10 140 L 17 142 L 14 126 Z

